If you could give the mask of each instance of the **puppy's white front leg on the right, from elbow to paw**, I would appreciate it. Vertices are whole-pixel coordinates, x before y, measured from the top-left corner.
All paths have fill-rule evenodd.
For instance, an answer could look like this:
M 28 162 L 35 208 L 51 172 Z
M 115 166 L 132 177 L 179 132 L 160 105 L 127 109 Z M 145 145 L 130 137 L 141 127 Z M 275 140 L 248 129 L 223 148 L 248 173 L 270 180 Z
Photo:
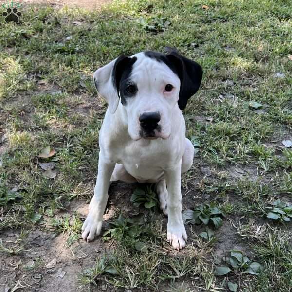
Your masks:
M 180 162 L 174 168 L 164 171 L 168 191 L 167 240 L 177 250 L 185 247 L 187 240 L 182 217 L 181 168 Z

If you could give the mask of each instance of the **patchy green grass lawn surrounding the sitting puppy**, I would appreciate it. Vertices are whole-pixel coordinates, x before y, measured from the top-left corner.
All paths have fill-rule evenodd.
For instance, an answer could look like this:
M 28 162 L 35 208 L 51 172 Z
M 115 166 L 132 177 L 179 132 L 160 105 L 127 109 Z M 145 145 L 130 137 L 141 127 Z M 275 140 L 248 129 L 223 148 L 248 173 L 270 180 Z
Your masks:
M 204 70 L 201 90 L 184 110 L 187 137 L 198 150 L 182 178 L 184 209 L 216 202 L 226 213 L 223 226 L 209 234 L 201 225 L 188 227 L 187 248 L 172 252 L 151 188 L 146 199 L 136 191 L 136 207 L 130 197 L 127 204 L 141 205 L 144 221 L 133 225 L 132 214 L 117 210 L 127 223 L 112 232 L 110 219 L 104 244 L 113 245 L 79 283 L 228 291 L 233 282 L 237 291 L 290 291 L 291 223 L 266 217 L 273 202 L 291 203 L 292 194 L 292 150 L 281 143 L 292 139 L 289 1 L 125 0 L 101 11 L 28 6 L 21 24 L 1 21 L 0 30 L 0 231 L 22 230 L 21 240 L 1 236 L 1 252 L 21 256 L 30 249 L 26 231 L 46 229 L 49 221 L 51 232 L 66 234 L 65 248 L 76 244 L 82 218 L 76 213 L 70 221 L 67 206 L 92 196 L 106 110 L 92 73 L 121 54 L 171 46 Z M 38 157 L 46 146 L 55 154 Z M 39 166 L 49 162 L 54 179 Z M 264 271 L 215 276 L 213 256 L 238 245 Z

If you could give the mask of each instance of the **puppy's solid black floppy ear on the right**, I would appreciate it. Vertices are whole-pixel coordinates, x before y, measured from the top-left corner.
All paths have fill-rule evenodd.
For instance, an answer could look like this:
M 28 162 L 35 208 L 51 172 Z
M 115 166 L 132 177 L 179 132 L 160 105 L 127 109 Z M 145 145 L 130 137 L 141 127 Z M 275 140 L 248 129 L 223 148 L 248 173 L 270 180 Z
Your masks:
M 188 99 L 198 91 L 203 70 L 198 63 L 187 59 L 176 51 L 172 51 L 166 57 L 172 66 L 174 66 L 181 80 L 178 104 L 179 108 L 183 110 L 186 107 Z

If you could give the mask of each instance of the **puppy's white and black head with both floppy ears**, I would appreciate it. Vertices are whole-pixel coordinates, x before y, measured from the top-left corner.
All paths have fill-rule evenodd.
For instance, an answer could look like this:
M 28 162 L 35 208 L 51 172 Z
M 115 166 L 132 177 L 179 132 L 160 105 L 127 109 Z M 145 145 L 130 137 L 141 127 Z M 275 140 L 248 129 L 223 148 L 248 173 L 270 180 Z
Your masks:
M 183 110 L 201 84 L 201 66 L 175 51 L 119 56 L 95 71 L 94 83 L 111 113 L 121 103 L 133 140 L 167 139 L 175 107 Z

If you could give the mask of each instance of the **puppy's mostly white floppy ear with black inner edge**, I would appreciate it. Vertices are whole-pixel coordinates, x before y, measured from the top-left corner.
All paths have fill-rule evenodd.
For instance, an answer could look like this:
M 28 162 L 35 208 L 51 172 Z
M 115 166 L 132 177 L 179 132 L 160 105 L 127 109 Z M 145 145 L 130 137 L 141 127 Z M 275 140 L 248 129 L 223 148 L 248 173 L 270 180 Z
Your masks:
M 122 73 L 132 63 L 132 60 L 133 58 L 121 55 L 93 74 L 95 87 L 108 102 L 111 113 L 114 113 L 119 105 L 119 84 Z

